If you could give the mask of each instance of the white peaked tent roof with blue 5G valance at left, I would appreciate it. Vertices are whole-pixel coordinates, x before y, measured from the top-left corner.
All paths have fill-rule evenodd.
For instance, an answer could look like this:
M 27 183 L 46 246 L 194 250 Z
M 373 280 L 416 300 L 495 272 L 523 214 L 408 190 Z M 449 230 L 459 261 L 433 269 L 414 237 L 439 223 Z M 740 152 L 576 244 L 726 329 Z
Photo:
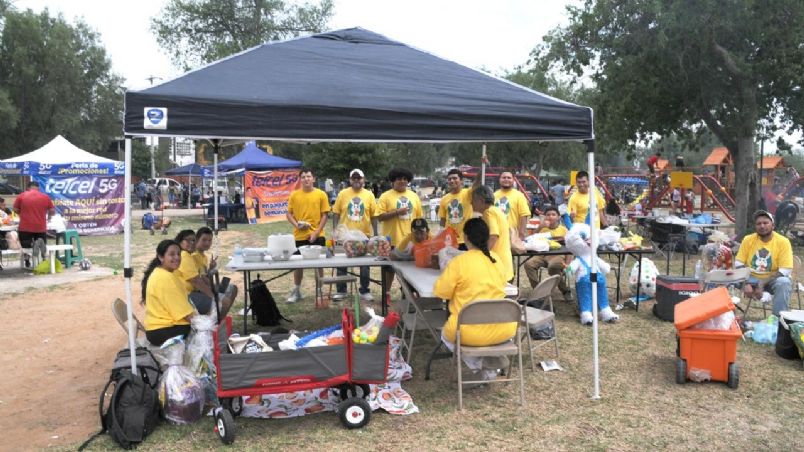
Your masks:
M 27 176 L 123 175 L 123 162 L 87 152 L 61 135 L 27 154 L 3 160 L 3 174 Z

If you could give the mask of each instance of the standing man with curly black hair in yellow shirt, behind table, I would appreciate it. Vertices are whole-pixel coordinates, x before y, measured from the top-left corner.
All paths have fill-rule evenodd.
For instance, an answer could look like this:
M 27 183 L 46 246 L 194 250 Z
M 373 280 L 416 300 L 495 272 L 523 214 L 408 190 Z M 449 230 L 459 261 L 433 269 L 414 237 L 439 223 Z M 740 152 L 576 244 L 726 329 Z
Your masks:
M 410 234 L 410 222 L 423 218 L 422 203 L 419 196 L 408 189 L 413 173 L 406 169 L 394 168 L 388 173 L 393 187 L 380 195 L 377 203 L 377 220 L 382 223 L 382 233 L 391 237 L 391 246 Z

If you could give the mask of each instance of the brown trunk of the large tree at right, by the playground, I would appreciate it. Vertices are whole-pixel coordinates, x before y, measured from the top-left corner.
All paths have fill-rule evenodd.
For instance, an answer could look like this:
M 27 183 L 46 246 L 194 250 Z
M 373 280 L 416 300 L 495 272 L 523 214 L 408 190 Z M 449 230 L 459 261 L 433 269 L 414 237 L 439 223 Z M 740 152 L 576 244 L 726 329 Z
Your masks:
M 737 149 L 729 149 L 734 158 L 734 213 L 735 233 L 742 237 L 751 232 L 751 215 L 756 208 L 756 162 L 754 159 L 754 137 L 741 137 Z

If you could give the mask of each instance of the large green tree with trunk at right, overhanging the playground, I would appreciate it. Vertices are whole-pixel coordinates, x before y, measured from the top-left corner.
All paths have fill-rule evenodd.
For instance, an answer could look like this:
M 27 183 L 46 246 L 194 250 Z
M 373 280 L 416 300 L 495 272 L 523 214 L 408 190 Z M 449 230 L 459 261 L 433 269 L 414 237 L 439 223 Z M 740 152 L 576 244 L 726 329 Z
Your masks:
M 568 12 L 536 59 L 595 85 L 597 136 L 624 145 L 705 124 L 736 161 L 745 232 L 760 121 L 804 123 L 804 2 L 586 0 Z

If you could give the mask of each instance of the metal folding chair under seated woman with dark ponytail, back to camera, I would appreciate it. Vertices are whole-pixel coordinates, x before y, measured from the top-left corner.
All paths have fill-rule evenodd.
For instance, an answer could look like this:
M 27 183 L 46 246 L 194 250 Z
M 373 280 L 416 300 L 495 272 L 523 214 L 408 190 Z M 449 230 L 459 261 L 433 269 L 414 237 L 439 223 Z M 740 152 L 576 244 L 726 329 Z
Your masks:
M 525 376 L 522 372 L 522 337 L 515 333 L 507 341 L 483 347 L 461 345 L 461 327 L 466 325 L 489 325 L 496 323 L 519 322 L 522 320 L 522 308 L 513 300 L 477 300 L 466 305 L 458 314 L 458 327 L 455 337 L 455 369 L 458 372 L 458 409 L 463 410 L 463 385 L 472 383 L 502 383 L 519 380 L 519 403 L 525 405 Z M 517 355 L 519 378 L 511 378 L 513 363 L 506 370 L 507 378 L 497 380 L 463 381 L 461 363 L 463 356 L 497 357 Z

